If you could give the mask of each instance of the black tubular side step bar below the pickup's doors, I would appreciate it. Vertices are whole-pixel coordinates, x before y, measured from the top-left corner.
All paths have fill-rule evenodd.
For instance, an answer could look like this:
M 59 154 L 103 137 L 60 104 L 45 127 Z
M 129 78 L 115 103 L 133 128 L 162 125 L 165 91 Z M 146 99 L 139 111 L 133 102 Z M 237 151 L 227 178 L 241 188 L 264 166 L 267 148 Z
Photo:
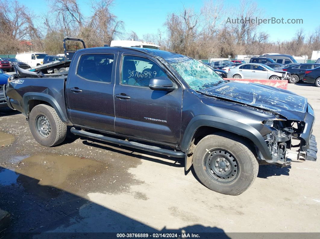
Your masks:
M 164 154 L 164 155 L 171 156 L 171 157 L 184 158 L 186 156 L 185 153 L 180 152 L 180 151 L 173 151 L 173 150 L 163 149 L 163 148 L 156 147 L 156 146 L 140 144 L 137 142 L 125 141 L 125 140 L 117 139 L 117 138 L 111 138 L 108 136 L 103 136 L 101 134 L 90 133 L 90 132 L 83 131 L 83 130 L 76 130 L 74 127 L 72 127 L 70 131 L 71 131 L 71 133 L 73 133 L 75 135 L 98 139 L 101 141 L 105 141 L 105 142 L 109 142 L 109 143 L 113 143 L 113 144 L 117 144 L 117 145 L 123 145 L 123 146 L 131 147 L 131 148 L 142 149 L 142 150 L 146 150 L 146 151 L 153 152 L 153 153 L 160 153 L 160 154 Z

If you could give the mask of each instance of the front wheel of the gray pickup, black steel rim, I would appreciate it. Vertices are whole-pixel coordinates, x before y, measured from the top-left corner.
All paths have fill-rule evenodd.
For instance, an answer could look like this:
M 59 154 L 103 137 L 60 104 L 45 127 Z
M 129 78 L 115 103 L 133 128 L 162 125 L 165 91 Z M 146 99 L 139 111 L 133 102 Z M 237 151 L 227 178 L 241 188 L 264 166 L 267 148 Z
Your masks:
M 228 132 L 208 135 L 199 141 L 193 154 L 196 175 L 213 191 L 239 195 L 258 175 L 259 164 L 250 148 L 246 141 Z M 211 166 L 210 161 L 214 162 Z

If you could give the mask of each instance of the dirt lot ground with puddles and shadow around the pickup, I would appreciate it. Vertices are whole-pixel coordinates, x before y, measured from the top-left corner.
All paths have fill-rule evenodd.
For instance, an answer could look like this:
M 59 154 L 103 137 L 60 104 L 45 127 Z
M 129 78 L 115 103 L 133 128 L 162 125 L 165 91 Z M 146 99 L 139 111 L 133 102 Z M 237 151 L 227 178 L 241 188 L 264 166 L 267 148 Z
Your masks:
M 289 90 L 320 115 L 319 88 Z M 185 176 L 181 159 L 71 134 L 40 146 L 8 108 L 0 131 L 9 134 L 0 135 L 0 208 L 12 214 L 4 232 L 320 232 L 319 162 L 260 166 L 249 190 L 227 196 Z M 313 133 L 319 140 L 319 120 Z

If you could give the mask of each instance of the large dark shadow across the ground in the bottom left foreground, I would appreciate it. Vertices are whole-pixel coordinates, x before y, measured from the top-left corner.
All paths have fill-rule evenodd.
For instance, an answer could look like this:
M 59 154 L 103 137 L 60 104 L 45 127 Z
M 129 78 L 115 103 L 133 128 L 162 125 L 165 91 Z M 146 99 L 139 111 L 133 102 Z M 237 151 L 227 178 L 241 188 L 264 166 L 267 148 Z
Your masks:
M 203 225 L 157 230 L 67 190 L 41 185 L 40 180 L 7 168 L 0 167 L 0 177 L 5 177 L 0 183 L 0 208 L 12 215 L 10 226 L 0 232 L 0 238 L 115 238 L 116 233 L 181 235 L 181 232 L 204 233 L 201 238 L 212 238 L 212 233 L 216 233 L 219 237 L 228 238 L 221 228 Z M 113 234 L 94 234 L 106 232 Z

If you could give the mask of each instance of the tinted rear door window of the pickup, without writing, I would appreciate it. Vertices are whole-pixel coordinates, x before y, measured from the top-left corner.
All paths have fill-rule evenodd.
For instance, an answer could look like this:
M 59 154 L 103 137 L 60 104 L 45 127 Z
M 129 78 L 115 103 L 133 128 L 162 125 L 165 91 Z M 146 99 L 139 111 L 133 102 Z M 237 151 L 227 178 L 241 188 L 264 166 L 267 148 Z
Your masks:
M 111 82 L 114 55 L 89 54 L 80 58 L 77 75 L 93 81 Z

